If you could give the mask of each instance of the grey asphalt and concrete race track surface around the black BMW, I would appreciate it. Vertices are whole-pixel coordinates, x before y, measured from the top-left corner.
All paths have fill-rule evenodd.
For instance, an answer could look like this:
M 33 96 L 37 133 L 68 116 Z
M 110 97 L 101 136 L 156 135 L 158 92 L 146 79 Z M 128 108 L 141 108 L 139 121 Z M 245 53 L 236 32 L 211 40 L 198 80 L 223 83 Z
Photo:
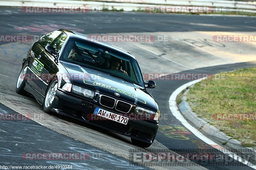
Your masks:
M 0 18 L 1 35 L 30 35 L 35 36 L 34 39 L 61 28 L 89 35 L 168 36 L 168 41 L 110 42 L 130 51 L 137 58 L 143 74 L 216 74 L 256 67 L 255 42 L 212 40 L 212 36 L 221 34 L 256 35 L 254 17 L 135 12 L 32 14 L 23 13 L 18 8 L 0 8 Z M 188 160 L 191 166 L 172 163 L 169 166 L 141 166 L 130 159 L 131 149 L 142 149 L 145 152 L 148 149 L 166 149 L 178 153 L 209 149 L 212 153 L 215 152 L 212 146 L 185 128 L 169 109 L 168 101 L 172 92 L 188 80 L 156 80 L 157 87 L 149 90 L 159 104 L 162 120 L 160 119 L 155 142 L 146 149 L 132 145 L 130 138 L 71 118 L 44 113 L 33 96 L 20 96 L 15 92 L 21 60 L 34 39 L 25 43 L 0 42 L 0 113 L 36 115 L 32 120 L 0 122 L 0 165 L 72 165 L 72 169 L 252 169 L 239 162 L 230 165 L 223 162 L 197 162 L 193 159 Z M 89 156 L 86 160 L 22 158 L 23 153 L 46 152 L 83 152 Z M 131 166 L 131 162 L 135 165 Z

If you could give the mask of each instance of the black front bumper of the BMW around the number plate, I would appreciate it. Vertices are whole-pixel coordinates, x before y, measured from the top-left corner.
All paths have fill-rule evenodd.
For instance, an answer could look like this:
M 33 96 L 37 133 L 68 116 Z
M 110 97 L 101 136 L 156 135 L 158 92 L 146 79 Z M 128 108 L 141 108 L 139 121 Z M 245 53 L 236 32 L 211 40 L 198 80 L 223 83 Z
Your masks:
M 102 120 L 101 117 L 95 117 L 95 115 L 92 118 L 96 107 L 119 114 L 114 110 L 100 105 L 99 101 L 89 101 L 60 90 L 57 90 L 56 92 L 52 111 L 79 119 L 130 138 L 152 143 L 159 127 L 158 123 L 149 120 L 129 119 L 128 123 L 124 125 L 112 120 Z

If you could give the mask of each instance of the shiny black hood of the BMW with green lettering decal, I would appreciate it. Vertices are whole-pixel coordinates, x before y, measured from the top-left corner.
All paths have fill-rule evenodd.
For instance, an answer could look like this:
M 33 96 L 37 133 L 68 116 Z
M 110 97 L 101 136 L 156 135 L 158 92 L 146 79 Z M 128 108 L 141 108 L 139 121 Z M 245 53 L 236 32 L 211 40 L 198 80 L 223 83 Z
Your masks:
M 74 85 L 99 92 L 148 110 L 157 111 L 155 99 L 137 85 L 87 67 L 61 61 Z M 120 96 L 116 96 L 118 93 Z

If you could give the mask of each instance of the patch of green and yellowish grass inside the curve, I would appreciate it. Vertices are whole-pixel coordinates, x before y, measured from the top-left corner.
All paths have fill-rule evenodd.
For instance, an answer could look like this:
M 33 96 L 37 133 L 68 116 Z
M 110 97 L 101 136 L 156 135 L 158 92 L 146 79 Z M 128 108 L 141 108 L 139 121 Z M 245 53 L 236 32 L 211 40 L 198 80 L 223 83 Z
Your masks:
M 187 95 L 192 110 L 243 146 L 256 146 L 256 120 L 216 120 L 213 114 L 256 113 L 256 67 L 196 83 Z

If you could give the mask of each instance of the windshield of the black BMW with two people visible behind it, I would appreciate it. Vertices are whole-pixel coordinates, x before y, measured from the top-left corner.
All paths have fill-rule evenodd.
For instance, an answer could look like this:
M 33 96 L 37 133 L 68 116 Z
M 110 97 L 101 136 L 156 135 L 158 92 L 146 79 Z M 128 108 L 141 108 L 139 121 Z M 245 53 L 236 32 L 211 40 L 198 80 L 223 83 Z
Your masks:
M 144 87 L 137 61 L 104 46 L 79 39 L 69 39 L 60 60 L 100 70 Z

